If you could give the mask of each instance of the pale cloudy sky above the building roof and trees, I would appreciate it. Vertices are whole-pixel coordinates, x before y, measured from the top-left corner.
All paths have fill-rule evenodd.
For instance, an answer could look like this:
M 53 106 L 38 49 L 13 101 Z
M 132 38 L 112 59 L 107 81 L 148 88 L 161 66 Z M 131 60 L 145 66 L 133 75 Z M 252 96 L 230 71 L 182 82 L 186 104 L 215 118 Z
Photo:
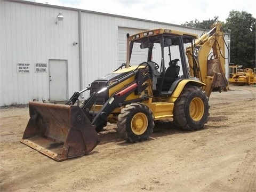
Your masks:
M 246 11 L 256 18 L 255 0 L 34 0 L 33 2 L 74 7 L 176 25 L 181 25 L 186 21 L 194 21 L 195 19 L 199 21 L 209 20 L 215 16 L 219 17 L 219 21 L 226 22 L 229 12 L 232 10 Z

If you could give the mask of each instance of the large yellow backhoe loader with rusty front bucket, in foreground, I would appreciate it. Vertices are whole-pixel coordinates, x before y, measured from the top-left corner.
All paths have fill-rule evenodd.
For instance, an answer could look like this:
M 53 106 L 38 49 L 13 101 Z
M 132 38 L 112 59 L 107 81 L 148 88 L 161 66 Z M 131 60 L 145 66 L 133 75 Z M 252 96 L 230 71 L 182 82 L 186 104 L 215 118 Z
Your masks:
M 158 120 L 173 119 L 180 129 L 199 130 L 209 116 L 211 92 L 227 87 L 219 22 L 200 38 L 162 28 L 127 34 L 126 63 L 118 69 L 75 92 L 66 105 L 29 102 L 21 142 L 63 161 L 89 154 L 107 122 L 117 123 L 127 142 L 147 140 Z M 78 105 L 85 91 L 90 97 Z

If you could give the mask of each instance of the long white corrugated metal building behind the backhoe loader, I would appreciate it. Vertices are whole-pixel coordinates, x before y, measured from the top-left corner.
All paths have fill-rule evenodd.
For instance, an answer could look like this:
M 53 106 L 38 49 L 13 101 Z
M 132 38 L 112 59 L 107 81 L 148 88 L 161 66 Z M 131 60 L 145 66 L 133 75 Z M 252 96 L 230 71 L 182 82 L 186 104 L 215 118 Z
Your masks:
M 57 20 L 58 15 L 63 21 Z M 125 62 L 127 33 L 155 28 L 198 36 L 203 32 L 69 7 L 0 0 L 0 106 L 33 99 L 67 100 Z

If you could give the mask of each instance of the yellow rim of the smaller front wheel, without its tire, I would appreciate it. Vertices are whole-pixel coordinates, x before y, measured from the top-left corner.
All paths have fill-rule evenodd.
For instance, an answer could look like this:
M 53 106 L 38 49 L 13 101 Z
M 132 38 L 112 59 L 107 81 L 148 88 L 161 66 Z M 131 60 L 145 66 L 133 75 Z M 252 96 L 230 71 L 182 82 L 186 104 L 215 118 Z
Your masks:
M 137 113 L 131 121 L 131 129 L 134 134 L 141 135 L 145 133 L 148 127 L 148 118 L 143 113 Z

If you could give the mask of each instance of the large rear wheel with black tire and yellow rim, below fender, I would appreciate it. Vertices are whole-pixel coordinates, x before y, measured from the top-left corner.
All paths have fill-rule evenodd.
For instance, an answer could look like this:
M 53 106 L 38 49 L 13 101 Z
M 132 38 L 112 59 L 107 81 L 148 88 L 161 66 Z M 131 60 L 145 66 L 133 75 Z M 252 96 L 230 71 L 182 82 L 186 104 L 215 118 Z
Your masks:
M 196 86 L 186 86 L 174 102 L 173 122 L 183 130 L 200 130 L 209 116 L 208 98 Z

